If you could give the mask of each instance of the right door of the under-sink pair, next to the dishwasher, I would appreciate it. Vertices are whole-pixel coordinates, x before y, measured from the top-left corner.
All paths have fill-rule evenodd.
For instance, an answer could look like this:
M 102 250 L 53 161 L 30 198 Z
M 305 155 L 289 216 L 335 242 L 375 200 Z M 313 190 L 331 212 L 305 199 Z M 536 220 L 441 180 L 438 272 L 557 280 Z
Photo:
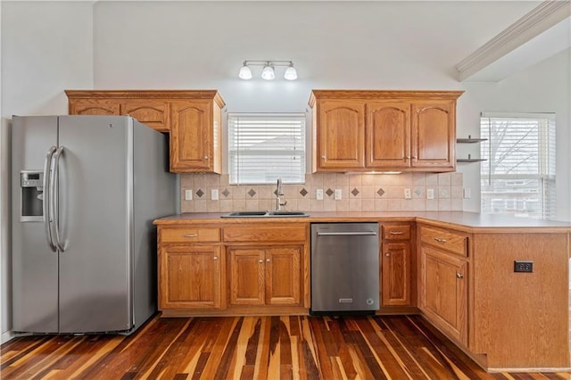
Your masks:
M 266 250 L 266 302 L 270 305 L 300 303 L 301 247 Z

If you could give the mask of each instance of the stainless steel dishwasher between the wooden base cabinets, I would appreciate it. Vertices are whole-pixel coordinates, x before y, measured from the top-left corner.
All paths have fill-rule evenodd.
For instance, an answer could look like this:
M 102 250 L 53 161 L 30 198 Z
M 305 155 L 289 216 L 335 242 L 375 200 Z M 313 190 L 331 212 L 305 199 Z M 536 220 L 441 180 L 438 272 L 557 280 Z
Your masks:
M 312 223 L 311 315 L 378 308 L 378 223 Z

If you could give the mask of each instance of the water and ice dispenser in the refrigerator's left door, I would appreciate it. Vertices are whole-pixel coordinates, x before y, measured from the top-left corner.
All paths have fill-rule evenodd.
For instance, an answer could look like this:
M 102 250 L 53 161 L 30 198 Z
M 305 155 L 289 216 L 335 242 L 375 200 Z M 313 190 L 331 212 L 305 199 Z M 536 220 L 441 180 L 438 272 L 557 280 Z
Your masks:
M 44 220 L 44 172 L 22 170 L 20 172 L 21 214 L 20 220 Z

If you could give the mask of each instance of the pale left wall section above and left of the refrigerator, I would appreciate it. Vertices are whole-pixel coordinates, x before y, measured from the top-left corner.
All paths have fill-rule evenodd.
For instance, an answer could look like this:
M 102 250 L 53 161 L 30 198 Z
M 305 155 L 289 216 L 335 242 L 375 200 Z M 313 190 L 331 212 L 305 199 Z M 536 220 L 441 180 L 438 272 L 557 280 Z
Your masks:
M 1 88 L 0 155 L 2 180 L 0 195 L 9 190 L 7 171 L 8 120 L 12 115 L 67 113 L 63 90 L 93 86 L 93 4 L 92 2 L 0 2 Z M 3 199 L 0 196 L 0 199 Z M 0 304 L 4 342 L 11 329 L 10 203 L 0 205 L 2 260 Z

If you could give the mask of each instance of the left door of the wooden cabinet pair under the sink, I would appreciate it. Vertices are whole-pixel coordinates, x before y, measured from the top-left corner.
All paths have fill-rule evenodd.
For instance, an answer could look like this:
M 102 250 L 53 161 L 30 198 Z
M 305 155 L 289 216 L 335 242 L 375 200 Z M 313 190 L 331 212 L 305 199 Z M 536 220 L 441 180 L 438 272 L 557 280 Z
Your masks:
M 265 265 L 261 248 L 228 248 L 230 305 L 265 303 Z

